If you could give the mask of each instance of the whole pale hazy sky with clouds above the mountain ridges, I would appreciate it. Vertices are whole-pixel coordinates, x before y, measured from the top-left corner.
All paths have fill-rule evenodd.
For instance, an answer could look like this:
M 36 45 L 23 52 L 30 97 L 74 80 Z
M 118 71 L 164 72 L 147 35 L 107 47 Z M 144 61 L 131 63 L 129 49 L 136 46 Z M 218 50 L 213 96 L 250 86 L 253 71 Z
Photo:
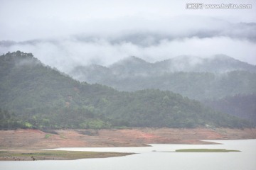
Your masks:
M 190 2 L 201 1 L 0 0 L 0 53 L 33 52 L 61 71 L 130 55 L 154 62 L 225 54 L 256 64 L 256 1 L 203 1 L 250 9 L 186 9 Z

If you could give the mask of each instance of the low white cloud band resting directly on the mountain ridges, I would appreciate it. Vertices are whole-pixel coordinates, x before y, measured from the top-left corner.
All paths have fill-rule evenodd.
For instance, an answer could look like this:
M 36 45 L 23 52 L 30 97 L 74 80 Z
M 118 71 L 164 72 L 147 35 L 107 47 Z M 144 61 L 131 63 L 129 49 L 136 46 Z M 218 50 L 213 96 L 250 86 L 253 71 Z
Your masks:
M 143 40 L 149 42 L 148 39 L 150 38 L 146 37 Z M 141 45 L 128 40 L 113 42 L 113 40 L 104 38 L 95 38 L 94 40 L 65 38 L 62 40 L 13 42 L 9 45 L 2 42 L 0 52 L 16 50 L 32 52 L 41 62 L 56 67 L 62 72 L 69 72 L 70 69 L 78 65 L 102 64 L 107 66 L 129 56 L 137 56 L 149 62 L 156 62 L 178 55 L 210 57 L 216 54 L 225 54 L 244 62 L 256 64 L 256 44 L 246 39 L 220 36 L 176 38 L 173 40 L 163 38 L 156 41 L 157 43 L 149 43 L 149 45 Z

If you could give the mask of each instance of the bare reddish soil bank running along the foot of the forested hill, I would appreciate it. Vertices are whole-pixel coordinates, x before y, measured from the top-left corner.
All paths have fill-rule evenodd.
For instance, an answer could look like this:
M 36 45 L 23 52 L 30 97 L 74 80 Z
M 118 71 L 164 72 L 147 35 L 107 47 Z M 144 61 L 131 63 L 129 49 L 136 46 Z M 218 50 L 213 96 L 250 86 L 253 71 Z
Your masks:
M 204 144 L 201 140 L 256 139 L 256 129 L 0 130 L 0 147 L 136 147 L 150 143 Z

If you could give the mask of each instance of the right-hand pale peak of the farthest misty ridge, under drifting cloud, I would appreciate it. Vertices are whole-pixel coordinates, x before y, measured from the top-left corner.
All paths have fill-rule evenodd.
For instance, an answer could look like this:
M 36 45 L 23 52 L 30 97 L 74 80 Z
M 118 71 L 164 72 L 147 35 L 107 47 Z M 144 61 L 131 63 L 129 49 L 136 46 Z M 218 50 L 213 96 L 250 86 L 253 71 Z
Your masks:
M 156 68 L 163 72 L 213 72 L 225 73 L 235 70 L 255 72 L 256 66 L 235 60 L 227 55 L 215 55 L 210 58 L 179 56 L 174 59 L 156 62 Z

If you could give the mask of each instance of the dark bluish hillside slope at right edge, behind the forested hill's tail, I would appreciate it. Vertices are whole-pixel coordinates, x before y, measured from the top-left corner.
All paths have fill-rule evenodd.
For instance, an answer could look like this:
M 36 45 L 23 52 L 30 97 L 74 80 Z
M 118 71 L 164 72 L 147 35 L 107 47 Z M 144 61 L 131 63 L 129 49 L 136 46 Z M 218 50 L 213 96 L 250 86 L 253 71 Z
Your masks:
M 217 111 L 250 120 L 256 125 L 256 94 L 229 96 L 204 103 Z

